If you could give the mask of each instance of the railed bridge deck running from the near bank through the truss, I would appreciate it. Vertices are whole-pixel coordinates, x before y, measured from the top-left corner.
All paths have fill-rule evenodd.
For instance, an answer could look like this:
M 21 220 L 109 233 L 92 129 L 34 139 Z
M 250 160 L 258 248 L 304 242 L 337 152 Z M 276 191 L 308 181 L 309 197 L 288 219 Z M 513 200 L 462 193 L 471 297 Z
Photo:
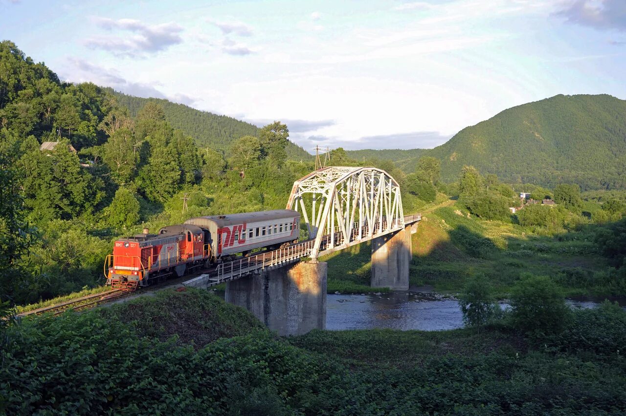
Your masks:
M 370 241 L 377 237 L 382 237 L 391 232 L 396 232 L 409 224 L 414 224 L 421 220 L 421 214 L 413 214 L 404 217 L 404 224 L 392 224 L 387 227 L 386 222 L 382 223 L 382 232 L 369 236 L 368 226 L 353 229 L 350 241 L 343 241 L 343 234 L 335 229 L 332 234 L 326 234 L 322 237 L 319 256 L 339 251 L 361 242 Z M 374 224 L 374 229 L 377 229 Z M 274 269 L 295 263 L 304 257 L 309 257 L 313 249 L 315 239 L 300 241 L 291 246 L 283 247 L 273 251 L 266 251 L 254 254 L 249 257 L 240 257 L 239 259 L 220 263 L 217 268 L 207 274 L 202 274 L 196 278 L 183 282 L 183 286 L 193 288 L 210 288 L 220 283 L 239 279 L 251 273 L 260 273 L 264 269 Z

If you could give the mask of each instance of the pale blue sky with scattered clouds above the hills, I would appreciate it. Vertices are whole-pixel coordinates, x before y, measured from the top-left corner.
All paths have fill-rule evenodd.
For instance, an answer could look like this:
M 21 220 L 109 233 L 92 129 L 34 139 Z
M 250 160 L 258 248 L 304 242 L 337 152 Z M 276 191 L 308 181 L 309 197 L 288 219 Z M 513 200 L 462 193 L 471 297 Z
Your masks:
M 61 80 L 265 125 L 314 147 L 433 148 L 557 94 L 626 98 L 626 0 L 0 0 Z

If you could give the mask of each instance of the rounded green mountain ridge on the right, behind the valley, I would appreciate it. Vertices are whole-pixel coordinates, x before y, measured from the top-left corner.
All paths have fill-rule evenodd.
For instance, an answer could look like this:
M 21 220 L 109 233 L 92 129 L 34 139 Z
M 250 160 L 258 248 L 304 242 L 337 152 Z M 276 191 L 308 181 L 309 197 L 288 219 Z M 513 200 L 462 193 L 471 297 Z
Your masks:
M 348 154 L 396 160 L 406 172 L 413 172 L 419 157 L 436 157 L 446 181 L 456 180 L 464 165 L 473 165 L 511 183 L 626 189 L 626 101 L 610 95 L 557 95 L 508 108 L 433 149 L 365 152 Z

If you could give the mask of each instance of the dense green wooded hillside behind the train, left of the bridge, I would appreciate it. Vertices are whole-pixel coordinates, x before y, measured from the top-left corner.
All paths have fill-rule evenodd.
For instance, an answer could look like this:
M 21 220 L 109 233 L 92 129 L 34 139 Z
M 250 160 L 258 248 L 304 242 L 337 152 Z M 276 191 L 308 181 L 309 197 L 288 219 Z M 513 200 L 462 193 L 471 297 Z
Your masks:
M 214 148 L 200 150 L 178 125 Z M 304 151 L 280 122 L 258 129 L 61 83 L 10 41 L 0 43 L 0 139 L 0 295 L 18 304 L 103 283 L 103 261 L 120 235 L 284 207 L 294 180 L 313 169 L 288 160 L 294 148 Z M 225 154 L 232 143 L 237 152 Z

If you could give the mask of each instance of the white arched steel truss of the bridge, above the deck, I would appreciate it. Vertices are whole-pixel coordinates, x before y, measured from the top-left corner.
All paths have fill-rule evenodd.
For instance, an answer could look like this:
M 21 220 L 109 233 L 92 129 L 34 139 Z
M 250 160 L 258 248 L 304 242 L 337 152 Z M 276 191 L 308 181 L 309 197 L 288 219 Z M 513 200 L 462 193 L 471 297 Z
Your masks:
M 312 259 L 404 227 L 398 182 L 375 167 L 316 170 L 294 182 L 287 209 L 302 213 Z

